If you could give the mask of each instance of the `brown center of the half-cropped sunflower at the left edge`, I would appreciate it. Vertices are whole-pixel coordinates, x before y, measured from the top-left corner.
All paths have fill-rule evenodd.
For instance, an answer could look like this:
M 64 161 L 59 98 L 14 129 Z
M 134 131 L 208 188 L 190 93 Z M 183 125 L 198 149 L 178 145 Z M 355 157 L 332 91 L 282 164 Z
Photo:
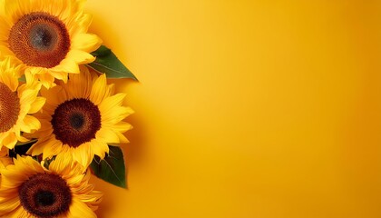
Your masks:
M 6 84 L 0 83 L 0 133 L 6 132 L 17 122 L 20 99 Z

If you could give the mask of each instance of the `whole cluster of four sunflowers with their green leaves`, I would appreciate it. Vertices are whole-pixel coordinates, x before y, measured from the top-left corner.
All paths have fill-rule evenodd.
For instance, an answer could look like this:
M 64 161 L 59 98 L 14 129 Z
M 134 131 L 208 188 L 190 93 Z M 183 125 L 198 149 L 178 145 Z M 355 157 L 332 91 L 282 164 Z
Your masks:
M 125 187 L 133 112 L 107 78 L 136 78 L 83 4 L 0 0 L 0 216 L 96 217 L 91 174 Z

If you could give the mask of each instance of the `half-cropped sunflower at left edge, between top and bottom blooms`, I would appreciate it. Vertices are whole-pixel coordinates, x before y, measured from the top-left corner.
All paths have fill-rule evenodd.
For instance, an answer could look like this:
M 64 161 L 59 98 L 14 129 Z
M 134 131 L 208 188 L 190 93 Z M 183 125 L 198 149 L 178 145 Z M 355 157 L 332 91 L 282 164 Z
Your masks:
M 17 141 L 27 142 L 21 133 L 33 133 L 40 122 L 31 114 L 44 105 L 44 97 L 37 96 L 41 84 L 18 86 L 20 66 L 11 64 L 9 58 L 0 62 L 0 148 L 14 148 Z

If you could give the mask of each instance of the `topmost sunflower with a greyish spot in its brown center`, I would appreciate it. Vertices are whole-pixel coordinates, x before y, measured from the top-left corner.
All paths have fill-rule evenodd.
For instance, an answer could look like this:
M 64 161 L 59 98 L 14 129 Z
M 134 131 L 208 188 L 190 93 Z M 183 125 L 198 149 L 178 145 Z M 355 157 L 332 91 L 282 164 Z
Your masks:
M 87 34 L 92 17 L 83 14 L 83 0 L 0 1 L 0 53 L 13 56 L 29 81 L 46 88 L 54 78 L 67 81 L 78 64 L 91 63 L 102 40 Z

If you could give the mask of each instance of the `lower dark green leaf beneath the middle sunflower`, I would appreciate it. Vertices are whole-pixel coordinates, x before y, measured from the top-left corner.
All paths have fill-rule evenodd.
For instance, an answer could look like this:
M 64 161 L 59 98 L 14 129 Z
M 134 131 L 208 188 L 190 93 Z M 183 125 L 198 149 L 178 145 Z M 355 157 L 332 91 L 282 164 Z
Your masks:
M 101 160 L 95 156 L 90 168 L 100 179 L 116 186 L 127 188 L 126 174 L 122 149 L 119 146 L 109 145 L 110 152 Z

